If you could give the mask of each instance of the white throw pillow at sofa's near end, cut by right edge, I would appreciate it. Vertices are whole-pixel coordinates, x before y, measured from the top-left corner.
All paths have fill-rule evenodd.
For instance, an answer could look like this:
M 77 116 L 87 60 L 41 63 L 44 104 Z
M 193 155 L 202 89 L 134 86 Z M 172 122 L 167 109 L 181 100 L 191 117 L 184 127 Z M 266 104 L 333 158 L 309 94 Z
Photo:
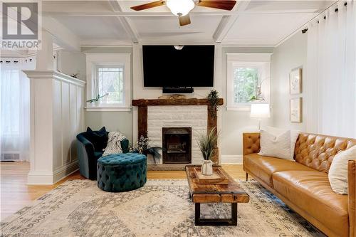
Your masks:
M 331 188 L 337 194 L 347 194 L 347 161 L 356 158 L 356 146 L 335 155 L 329 169 Z

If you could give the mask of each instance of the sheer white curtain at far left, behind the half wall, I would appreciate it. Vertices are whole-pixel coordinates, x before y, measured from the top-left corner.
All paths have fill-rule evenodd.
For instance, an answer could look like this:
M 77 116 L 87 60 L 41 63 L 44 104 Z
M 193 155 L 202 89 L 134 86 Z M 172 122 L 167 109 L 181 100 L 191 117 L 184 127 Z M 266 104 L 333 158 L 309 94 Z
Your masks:
M 1 161 L 28 161 L 30 149 L 30 86 L 22 70 L 34 69 L 34 58 L 1 58 Z

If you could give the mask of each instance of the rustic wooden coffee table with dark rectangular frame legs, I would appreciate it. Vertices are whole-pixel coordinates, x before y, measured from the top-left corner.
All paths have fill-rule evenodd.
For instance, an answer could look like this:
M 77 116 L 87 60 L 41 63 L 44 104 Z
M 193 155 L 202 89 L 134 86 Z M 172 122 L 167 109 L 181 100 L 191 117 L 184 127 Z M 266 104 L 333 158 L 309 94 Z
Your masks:
M 239 184 L 222 171 L 229 178 L 229 184 L 199 184 L 194 168 L 199 166 L 188 165 L 185 167 L 189 184 L 189 198 L 195 204 L 196 226 L 236 226 L 237 204 L 248 203 L 250 197 L 240 188 Z M 202 203 L 230 203 L 231 218 L 200 218 L 200 204 Z

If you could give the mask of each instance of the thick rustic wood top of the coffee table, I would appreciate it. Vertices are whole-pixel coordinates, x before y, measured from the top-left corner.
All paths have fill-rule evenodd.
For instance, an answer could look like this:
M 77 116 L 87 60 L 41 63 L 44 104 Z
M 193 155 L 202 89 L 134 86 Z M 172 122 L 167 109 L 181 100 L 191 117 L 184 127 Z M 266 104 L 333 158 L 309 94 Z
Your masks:
M 241 189 L 239 184 L 227 174 L 224 169 L 222 172 L 229 178 L 229 184 L 199 184 L 194 168 L 195 165 L 187 165 L 187 174 L 190 196 L 194 203 L 248 203 L 250 197 Z

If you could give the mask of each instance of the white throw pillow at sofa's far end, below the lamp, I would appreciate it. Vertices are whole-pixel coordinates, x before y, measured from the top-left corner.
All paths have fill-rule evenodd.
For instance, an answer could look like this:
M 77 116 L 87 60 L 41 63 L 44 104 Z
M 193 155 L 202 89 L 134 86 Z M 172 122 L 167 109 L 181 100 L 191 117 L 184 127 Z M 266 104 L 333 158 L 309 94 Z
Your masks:
M 261 150 L 258 154 L 261 154 L 262 156 L 290 159 L 289 130 L 278 136 L 265 130 L 261 130 L 260 145 Z

